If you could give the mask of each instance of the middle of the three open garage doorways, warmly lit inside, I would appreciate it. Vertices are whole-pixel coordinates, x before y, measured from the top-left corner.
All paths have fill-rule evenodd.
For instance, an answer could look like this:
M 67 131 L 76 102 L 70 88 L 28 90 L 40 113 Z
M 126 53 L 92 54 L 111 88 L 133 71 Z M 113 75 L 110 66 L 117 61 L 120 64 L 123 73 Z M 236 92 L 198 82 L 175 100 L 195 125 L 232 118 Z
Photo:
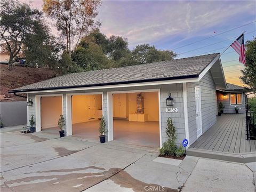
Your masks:
M 102 94 L 72 95 L 72 135 L 99 141 Z

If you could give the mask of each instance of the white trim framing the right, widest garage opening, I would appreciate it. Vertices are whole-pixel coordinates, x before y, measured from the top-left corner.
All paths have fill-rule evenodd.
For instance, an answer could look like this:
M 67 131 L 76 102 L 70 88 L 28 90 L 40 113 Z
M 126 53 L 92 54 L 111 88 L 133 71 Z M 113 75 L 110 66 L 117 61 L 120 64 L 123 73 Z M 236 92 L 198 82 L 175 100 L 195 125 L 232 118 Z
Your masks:
M 108 141 L 114 140 L 113 131 L 113 95 L 115 93 L 147 93 L 158 92 L 158 113 L 159 113 L 159 139 L 160 147 L 162 148 L 162 124 L 161 124 L 161 92 L 160 89 L 148 89 L 148 90 L 127 90 L 127 91 L 108 91 L 107 92 L 107 114 L 108 114 Z

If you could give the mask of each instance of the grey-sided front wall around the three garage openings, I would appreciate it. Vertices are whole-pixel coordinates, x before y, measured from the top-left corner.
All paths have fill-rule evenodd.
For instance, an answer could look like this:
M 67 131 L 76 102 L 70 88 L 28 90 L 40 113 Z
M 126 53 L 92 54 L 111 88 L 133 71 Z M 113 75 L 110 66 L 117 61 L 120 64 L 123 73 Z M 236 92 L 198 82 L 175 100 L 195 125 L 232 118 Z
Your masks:
M 161 124 L 162 124 L 162 142 L 167 140 L 167 135 L 165 133 L 167 126 L 167 117 L 171 117 L 173 124 L 177 129 L 177 143 L 180 144 L 185 138 L 185 121 L 184 121 L 184 110 L 183 110 L 183 89 L 182 84 L 169 84 L 169 85 L 152 85 L 152 86 L 137 86 L 137 87 L 122 87 L 116 89 L 99 89 L 99 90 L 85 90 L 85 91 L 67 91 L 63 92 L 51 92 L 48 94 L 63 94 L 63 115 L 66 120 L 66 93 L 90 93 L 90 92 L 103 92 L 103 115 L 105 116 L 107 123 L 107 91 L 126 91 L 126 90 L 148 90 L 148 89 L 160 89 L 161 95 Z M 166 98 L 168 93 L 171 92 L 172 98 L 174 98 L 174 106 L 178 108 L 178 113 L 166 113 Z M 38 95 L 43 95 L 47 93 L 36 93 Z M 33 106 L 29 107 L 29 116 L 32 114 L 36 115 L 35 111 L 35 93 L 28 94 L 34 102 Z M 66 127 L 65 127 L 66 130 Z

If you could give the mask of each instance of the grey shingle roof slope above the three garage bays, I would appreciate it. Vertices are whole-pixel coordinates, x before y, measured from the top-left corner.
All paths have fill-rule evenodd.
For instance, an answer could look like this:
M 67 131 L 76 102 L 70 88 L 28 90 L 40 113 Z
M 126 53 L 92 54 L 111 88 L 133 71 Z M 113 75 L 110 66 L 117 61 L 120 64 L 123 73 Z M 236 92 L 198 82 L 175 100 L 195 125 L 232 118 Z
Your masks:
M 86 71 L 47 79 L 26 85 L 10 92 L 65 89 L 135 82 L 164 81 L 198 77 L 219 53 L 200 55 L 170 61 L 153 62 L 142 65 Z

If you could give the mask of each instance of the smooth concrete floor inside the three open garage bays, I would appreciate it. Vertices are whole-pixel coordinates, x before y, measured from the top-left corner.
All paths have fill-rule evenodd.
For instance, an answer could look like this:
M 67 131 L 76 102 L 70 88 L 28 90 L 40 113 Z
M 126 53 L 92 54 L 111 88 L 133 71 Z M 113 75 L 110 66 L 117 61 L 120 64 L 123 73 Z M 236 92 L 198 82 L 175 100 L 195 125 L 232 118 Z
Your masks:
M 73 124 L 73 136 L 99 141 L 100 120 Z M 42 129 L 47 133 L 58 133 L 58 127 Z M 114 140 L 138 146 L 159 148 L 159 122 L 129 122 L 114 119 Z

